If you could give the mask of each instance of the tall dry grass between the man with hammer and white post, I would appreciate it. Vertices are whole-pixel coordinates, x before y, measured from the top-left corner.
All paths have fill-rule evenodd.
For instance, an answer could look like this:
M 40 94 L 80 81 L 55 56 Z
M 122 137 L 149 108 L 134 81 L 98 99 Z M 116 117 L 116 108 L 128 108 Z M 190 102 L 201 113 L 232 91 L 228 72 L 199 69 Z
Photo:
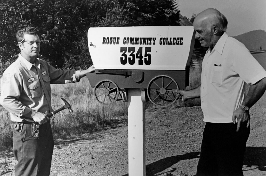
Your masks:
M 55 136 L 80 136 L 99 131 L 115 121 L 123 121 L 127 116 L 127 103 L 123 101 L 110 105 L 96 101 L 87 78 L 82 78 L 78 83 L 52 85 L 51 88 L 53 108 L 64 105 L 60 98 L 65 98 L 74 111 L 70 114 L 68 110 L 63 110 L 51 119 Z

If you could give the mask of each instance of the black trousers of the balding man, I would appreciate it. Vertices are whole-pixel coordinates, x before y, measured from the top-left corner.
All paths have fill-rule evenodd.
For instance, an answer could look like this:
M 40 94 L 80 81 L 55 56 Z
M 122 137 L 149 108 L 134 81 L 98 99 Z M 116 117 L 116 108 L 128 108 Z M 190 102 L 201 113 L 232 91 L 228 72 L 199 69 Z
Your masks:
M 243 176 L 247 124 L 236 132 L 237 123 L 209 123 L 203 132 L 197 176 Z

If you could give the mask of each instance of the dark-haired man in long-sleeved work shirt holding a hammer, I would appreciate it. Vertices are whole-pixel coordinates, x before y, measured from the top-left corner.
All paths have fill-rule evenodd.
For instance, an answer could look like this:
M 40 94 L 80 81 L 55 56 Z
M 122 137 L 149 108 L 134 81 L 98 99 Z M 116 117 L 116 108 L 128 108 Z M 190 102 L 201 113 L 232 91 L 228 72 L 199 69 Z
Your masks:
M 78 82 L 83 71 L 55 69 L 44 60 L 38 59 L 40 39 L 38 30 L 26 27 L 16 33 L 20 54 L 3 73 L 1 78 L 0 103 L 10 112 L 15 122 L 13 130 L 13 151 L 18 163 L 16 176 L 50 175 L 53 153 L 53 136 L 49 117 L 51 106 L 50 84 Z M 34 138 L 34 120 L 40 124 L 39 139 Z

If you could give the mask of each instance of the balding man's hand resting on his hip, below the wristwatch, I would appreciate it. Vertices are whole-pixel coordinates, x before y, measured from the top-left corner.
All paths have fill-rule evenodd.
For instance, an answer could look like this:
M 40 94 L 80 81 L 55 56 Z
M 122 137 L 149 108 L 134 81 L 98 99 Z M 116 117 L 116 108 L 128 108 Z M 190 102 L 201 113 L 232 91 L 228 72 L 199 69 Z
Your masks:
M 235 123 L 237 119 L 236 131 L 239 131 L 240 126 L 247 123 L 247 128 L 250 126 L 250 114 L 249 111 L 239 107 L 233 112 L 232 121 Z

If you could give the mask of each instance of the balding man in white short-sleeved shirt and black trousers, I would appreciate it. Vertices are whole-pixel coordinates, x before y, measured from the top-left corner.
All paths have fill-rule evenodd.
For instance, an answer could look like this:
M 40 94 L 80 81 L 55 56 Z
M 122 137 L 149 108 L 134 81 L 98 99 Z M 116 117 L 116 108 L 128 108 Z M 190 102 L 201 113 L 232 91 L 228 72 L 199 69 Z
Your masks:
M 209 47 L 202 62 L 201 85 L 180 90 L 180 98 L 201 98 L 206 122 L 197 176 L 243 176 L 249 109 L 266 89 L 266 71 L 248 49 L 226 33 L 227 19 L 209 8 L 193 23 L 195 38 Z M 250 88 L 245 95 L 245 85 Z

